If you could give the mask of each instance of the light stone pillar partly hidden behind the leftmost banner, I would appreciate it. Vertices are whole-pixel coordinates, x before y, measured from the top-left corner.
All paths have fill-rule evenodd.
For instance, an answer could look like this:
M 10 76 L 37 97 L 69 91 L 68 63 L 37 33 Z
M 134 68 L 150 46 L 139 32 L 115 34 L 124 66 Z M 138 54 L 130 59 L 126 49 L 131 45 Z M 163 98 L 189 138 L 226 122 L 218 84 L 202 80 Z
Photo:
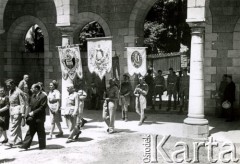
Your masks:
M 62 46 L 73 44 L 73 30 L 71 27 L 60 27 L 62 32 Z M 67 84 L 73 83 L 70 78 L 64 80 L 62 78 L 62 107 L 66 105 L 66 97 L 68 96 Z

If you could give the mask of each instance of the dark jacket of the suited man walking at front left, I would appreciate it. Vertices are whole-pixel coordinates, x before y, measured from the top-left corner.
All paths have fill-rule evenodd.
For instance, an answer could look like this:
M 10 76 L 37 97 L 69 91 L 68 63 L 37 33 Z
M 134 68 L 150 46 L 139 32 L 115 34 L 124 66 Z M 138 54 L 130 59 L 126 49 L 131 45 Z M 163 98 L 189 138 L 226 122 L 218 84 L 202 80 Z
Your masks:
M 45 121 L 47 107 L 47 96 L 40 92 L 37 96 L 34 94 L 30 100 L 30 108 L 33 111 L 33 118 L 37 121 Z

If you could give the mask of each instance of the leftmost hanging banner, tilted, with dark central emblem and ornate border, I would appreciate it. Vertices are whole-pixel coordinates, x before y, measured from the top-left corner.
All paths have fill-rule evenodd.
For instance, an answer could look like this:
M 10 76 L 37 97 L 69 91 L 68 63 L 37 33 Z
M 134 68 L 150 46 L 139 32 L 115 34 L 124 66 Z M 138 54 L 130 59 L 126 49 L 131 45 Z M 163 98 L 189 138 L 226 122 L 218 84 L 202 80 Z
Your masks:
M 82 62 L 78 45 L 58 47 L 62 77 L 74 79 L 76 75 L 82 78 Z

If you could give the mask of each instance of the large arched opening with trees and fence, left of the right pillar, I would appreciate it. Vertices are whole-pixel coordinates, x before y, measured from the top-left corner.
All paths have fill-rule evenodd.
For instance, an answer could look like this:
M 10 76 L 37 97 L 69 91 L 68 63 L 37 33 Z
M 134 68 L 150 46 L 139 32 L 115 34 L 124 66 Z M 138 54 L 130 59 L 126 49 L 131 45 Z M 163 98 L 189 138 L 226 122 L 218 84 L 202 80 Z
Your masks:
M 173 67 L 176 74 L 182 66 L 190 67 L 190 59 L 187 57 L 190 57 L 191 33 L 186 17 L 187 0 L 139 0 L 133 7 L 129 17 L 128 38 L 131 40 L 127 44 L 148 47 L 147 65 L 149 69 L 153 69 L 154 75 L 162 70 L 167 78 L 170 67 Z M 187 52 L 184 58 L 182 52 Z M 155 62 L 160 56 L 163 60 Z M 166 94 L 164 95 L 167 100 Z M 151 96 L 148 100 L 152 100 Z

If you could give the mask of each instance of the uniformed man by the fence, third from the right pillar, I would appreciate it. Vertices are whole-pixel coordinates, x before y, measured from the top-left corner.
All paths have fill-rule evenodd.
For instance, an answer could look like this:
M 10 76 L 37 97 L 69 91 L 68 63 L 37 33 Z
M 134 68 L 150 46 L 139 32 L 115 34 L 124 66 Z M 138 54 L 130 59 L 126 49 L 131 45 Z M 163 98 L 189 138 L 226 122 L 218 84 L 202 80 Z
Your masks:
M 163 92 L 165 91 L 165 79 L 162 76 L 162 70 L 158 70 L 158 75 L 156 76 L 155 80 L 154 80 L 154 85 L 155 85 L 155 89 L 154 89 L 154 104 L 155 104 L 155 100 L 156 100 L 156 96 L 159 95 L 159 109 L 161 109 L 162 107 L 162 95 Z

